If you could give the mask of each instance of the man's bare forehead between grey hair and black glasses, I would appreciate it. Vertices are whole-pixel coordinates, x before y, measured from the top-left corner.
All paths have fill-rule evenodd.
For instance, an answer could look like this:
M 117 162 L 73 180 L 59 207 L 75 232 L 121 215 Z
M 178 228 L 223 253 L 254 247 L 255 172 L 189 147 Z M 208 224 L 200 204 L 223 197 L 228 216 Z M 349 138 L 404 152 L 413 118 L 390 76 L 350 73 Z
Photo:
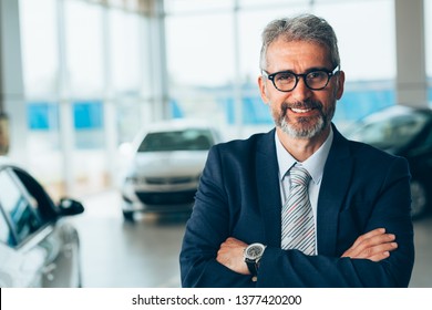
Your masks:
M 330 53 L 326 45 L 309 41 L 287 41 L 282 38 L 268 46 L 266 58 L 270 72 L 331 65 Z

